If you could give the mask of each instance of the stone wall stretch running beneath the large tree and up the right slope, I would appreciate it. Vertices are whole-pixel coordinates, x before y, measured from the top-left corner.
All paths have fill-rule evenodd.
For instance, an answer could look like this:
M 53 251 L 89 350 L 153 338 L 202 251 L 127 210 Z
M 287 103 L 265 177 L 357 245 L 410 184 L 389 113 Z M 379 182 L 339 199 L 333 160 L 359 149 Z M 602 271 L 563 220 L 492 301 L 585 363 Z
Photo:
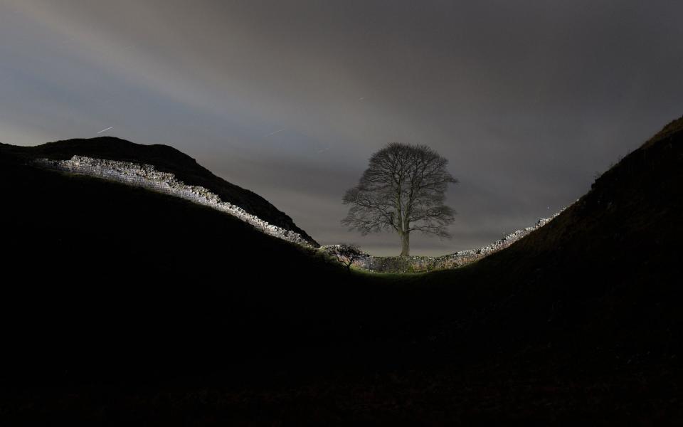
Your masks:
M 566 209 L 566 208 L 565 208 Z M 522 230 L 509 233 L 504 238 L 501 238 L 493 243 L 482 248 L 470 249 L 467 251 L 459 251 L 441 256 L 372 256 L 365 255 L 354 262 L 354 266 L 364 270 L 375 271 L 377 273 L 421 273 L 433 270 L 443 270 L 448 268 L 457 268 L 462 265 L 473 263 L 484 258 L 487 255 L 500 251 L 512 243 L 518 241 L 520 238 L 528 235 L 542 226 L 549 223 L 552 219 L 562 213 L 564 209 L 550 218 L 541 218 L 536 221 L 536 224 L 531 227 L 526 227 Z M 321 249 L 324 250 L 326 246 Z

